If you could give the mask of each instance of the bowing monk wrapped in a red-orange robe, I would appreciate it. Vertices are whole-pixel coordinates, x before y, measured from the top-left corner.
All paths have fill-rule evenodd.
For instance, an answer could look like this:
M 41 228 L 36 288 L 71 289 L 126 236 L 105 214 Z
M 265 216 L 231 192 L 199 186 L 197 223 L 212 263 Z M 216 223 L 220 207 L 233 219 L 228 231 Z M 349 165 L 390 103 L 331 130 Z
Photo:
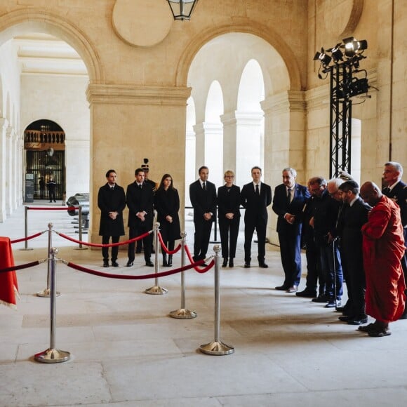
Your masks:
M 363 264 L 366 272 L 366 314 L 374 323 L 359 326 L 369 336 L 390 335 L 389 322 L 403 314 L 406 283 L 401 258 L 404 246 L 400 208 L 383 195 L 373 182 L 361 186 L 363 201 L 373 206 L 368 222 L 362 226 Z

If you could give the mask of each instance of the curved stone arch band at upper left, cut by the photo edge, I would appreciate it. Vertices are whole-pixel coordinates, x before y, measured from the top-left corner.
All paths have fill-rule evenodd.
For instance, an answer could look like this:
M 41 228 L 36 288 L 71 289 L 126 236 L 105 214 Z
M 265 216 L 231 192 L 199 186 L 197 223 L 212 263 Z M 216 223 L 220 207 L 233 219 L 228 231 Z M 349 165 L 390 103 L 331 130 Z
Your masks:
M 0 44 L 21 32 L 46 32 L 63 39 L 81 55 L 90 83 L 105 82 L 105 72 L 95 47 L 79 27 L 66 18 L 38 8 L 12 11 L 0 17 Z

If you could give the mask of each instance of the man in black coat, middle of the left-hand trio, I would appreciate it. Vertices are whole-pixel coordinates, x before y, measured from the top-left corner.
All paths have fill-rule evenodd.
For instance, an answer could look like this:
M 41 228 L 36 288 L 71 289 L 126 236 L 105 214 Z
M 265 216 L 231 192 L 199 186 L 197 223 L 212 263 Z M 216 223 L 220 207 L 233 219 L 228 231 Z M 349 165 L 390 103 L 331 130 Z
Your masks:
M 126 201 L 128 206 L 128 237 L 133 239 L 140 234 L 149 232 L 152 229 L 153 222 L 153 204 L 154 196 L 152 187 L 144 182 L 145 174 L 142 168 L 135 170 L 135 181 L 128 185 L 126 192 Z M 144 246 L 145 265 L 154 267 L 151 261 L 151 241 L 152 235 L 149 234 L 142 241 Z M 128 245 L 127 267 L 133 266 L 135 242 Z

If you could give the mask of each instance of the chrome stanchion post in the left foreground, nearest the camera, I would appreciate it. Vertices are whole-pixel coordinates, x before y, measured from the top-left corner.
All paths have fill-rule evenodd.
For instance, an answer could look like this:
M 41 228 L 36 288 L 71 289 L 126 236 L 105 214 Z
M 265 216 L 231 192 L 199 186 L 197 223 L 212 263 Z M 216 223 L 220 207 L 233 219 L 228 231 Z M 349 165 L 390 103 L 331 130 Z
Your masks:
M 50 346 L 44 352 L 34 355 L 34 359 L 42 363 L 60 363 L 69 361 L 70 353 L 60 349 L 55 349 L 55 332 L 56 332 L 56 260 L 55 255 L 58 248 L 51 248 L 49 252 L 49 261 L 51 262 L 51 327 L 50 327 Z

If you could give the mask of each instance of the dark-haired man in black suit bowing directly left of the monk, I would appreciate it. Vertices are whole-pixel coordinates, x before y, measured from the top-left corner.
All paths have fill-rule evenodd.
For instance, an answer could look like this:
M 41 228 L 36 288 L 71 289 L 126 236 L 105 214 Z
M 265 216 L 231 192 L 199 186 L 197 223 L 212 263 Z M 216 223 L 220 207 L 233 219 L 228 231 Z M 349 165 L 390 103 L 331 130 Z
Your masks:
M 368 321 L 365 312 L 366 278 L 363 268 L 363 248 L 361 227 L 368 222 L 371 206 L 359 196 L 359 185 L 353 180 L 339 186 L 344 205 L 338 220 L 340 253 L 346 271 L 348 302 L 346 312 L 340 321 L 350 325 L 361 325 Z

